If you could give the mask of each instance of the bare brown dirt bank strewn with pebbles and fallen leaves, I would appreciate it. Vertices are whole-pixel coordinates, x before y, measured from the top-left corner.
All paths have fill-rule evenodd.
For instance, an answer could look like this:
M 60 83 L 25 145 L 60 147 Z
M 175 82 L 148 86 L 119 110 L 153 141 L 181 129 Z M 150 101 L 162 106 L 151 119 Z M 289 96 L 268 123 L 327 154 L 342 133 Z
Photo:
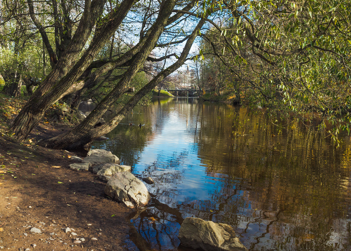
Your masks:
M 69 169 L 68 155 L 0 136 L 0 250 L 123 250 L 131 210 L 92 173 Z

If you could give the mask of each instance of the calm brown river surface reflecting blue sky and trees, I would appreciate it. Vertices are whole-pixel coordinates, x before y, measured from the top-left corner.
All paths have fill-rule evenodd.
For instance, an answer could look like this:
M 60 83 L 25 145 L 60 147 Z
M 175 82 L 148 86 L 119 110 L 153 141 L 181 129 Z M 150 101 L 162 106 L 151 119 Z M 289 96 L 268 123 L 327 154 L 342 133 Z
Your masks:
M 346 135 L 337 148 L 295 120 L 281 127 L 246 107 L 160 98 L 106 136 L 93 148 L 155 180 L 149 206 L 131 215 L 126 250 L 184 250 L 186 217 L 230 224 L 251 251 L 351 250 Z

